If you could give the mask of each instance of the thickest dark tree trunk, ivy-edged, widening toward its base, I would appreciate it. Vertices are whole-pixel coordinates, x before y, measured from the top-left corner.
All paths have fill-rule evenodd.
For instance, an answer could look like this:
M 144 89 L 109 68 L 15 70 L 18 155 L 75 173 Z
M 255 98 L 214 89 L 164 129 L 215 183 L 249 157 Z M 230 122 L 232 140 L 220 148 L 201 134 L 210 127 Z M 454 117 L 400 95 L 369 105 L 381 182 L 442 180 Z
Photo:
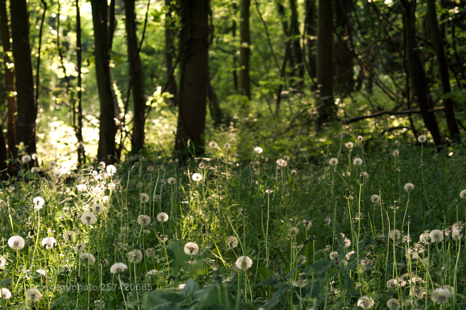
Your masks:
M 180 35 L 183 40 L 180 50 L 187 50 L 180 66 L 175 150 L 180 151 L 183 157 L 190 153 L 199 155 L 204 152 L 206 97 L 209 84 L 207 8 L 208 0 L 186 1 L 180 8 L 184 25 Z

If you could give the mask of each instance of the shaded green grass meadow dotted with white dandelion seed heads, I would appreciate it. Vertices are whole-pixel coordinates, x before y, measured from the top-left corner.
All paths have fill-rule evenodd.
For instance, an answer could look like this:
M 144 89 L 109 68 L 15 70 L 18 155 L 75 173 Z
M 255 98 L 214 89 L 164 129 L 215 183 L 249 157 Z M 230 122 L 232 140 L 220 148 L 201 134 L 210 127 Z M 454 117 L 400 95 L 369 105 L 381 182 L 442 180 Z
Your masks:
M 216 139 L 4 182 L 1 307 L 464 308 L 462 144 Z

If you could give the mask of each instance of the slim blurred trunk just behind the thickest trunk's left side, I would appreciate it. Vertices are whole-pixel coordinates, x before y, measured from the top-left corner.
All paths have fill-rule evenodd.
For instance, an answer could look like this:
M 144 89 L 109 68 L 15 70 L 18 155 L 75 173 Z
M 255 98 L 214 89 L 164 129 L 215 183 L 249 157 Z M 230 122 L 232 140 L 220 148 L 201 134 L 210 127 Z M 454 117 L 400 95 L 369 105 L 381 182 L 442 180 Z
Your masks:
M 178 103 L 178 91 L 176 87 L 175 74 L 173 71 L 173 22 L 171 20 L 171 0 L 165 0 L 165 5 L 169 7 L 168 12 L 165 14 L 165 54 L 167 59 L 167 92 L 173 95 L 168 101 L 172 105 Z

